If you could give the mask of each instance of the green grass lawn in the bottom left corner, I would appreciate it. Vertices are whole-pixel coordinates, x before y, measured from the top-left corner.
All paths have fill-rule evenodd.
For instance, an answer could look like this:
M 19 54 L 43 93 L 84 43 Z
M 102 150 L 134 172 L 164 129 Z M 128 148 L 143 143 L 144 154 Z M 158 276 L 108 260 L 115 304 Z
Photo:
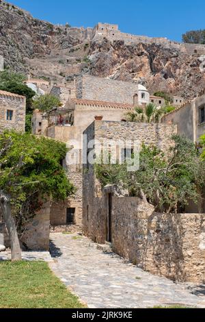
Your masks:
M 83 308 L 46 262 L 0 262 L 0 308 Z

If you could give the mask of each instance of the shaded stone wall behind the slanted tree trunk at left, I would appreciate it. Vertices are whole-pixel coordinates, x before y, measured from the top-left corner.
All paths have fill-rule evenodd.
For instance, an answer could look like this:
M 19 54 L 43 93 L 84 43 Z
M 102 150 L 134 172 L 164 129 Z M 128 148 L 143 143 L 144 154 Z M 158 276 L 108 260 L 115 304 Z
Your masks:
M 20 238 L 21 247 L 33 251 L 49 251 L 49 225 L 50 202 L 46 202 Z M 0 243 L 1 241 L 5 247 L 10 247 L 8 232 L 2 219 L 0 219 Z

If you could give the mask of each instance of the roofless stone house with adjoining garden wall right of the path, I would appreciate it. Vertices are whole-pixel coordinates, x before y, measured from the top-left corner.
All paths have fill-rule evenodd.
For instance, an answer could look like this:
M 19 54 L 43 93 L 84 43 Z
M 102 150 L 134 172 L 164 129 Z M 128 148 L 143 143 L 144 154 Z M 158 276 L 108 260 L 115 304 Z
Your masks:
M 167 151 L 176 125 L 95 121 L 87 140 L 135 140 Z M 87 150 L 90 151 L 89 149 Z M 97 153 L 94 149 L 94 153 Z M 102 188 L 92 164 L 83 165 L 83 233 L 138 267 L 172 280 L 203 283 L 205 214 L 159 214 L 139 197 L 118 187 Z

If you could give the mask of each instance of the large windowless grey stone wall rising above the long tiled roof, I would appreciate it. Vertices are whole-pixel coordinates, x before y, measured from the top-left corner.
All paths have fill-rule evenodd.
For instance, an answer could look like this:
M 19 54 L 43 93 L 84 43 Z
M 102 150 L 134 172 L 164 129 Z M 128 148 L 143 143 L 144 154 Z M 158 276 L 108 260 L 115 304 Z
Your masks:
M 77 98 L 133 104 L 138 84 L 83 75 L 76 80 Z

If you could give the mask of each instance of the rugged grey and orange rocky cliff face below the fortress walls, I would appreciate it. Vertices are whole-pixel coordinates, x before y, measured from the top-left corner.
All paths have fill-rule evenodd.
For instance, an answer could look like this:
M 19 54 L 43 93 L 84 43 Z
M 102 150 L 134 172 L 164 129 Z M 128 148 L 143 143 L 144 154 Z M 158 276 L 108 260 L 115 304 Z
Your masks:
M 141 82 L 150 92 L 163 90 L 186 99 L 205 88 L 205 55 L 154 42 L 90 40 L 91 32 L 39 21 L 0 0 L 0 55 L 16 71 L 57 82 L 90 73 Z

